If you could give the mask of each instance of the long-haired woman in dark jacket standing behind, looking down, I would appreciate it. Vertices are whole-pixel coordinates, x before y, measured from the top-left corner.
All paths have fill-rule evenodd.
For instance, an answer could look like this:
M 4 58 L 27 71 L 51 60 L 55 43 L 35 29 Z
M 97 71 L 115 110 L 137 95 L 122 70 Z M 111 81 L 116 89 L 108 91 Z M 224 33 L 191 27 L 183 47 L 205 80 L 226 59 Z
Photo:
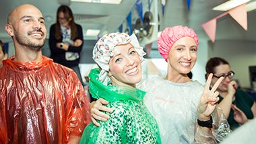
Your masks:
M 80 52 L 84 44 L 82 26 L 75 24 L 73 13 L 67 5 L 57 10 L 57 20 L 50 28 L 51 59 L 75 71 L 84 85 L 79 69 Z

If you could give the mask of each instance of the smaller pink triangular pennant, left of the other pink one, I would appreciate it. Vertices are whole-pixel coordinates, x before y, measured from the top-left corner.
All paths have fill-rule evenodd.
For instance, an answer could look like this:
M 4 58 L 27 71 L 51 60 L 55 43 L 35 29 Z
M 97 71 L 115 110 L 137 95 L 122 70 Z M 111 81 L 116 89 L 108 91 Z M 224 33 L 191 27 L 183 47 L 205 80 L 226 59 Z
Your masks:
M 216 35 L 216 19 L 205 22 L 201 26 L 203 27 L 203 30 L 205 30 L 209 38 L 212 40 L 212 42 L 214 42 Z

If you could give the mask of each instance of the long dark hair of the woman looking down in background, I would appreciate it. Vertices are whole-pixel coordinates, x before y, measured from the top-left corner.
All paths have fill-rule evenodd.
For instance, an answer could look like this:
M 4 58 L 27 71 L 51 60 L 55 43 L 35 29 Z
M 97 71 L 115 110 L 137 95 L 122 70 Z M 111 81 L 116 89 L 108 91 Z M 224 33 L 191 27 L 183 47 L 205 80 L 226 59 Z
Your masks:
M 77 36 L 77 28 L 75 26 L 75 21 L 73 17 L 73 13 L 71 9 L 67 5 L 61 5 L 57 10 L 57 20 L 55 23 L 55 38 L 57 40 L 61 39 L 61 24 L 59 24 L 59 13 L 63 12 L 65 20 L 69 21 L 71 18 L 71 21 L 69 22 L 70 28 L 71 28 L 71 40 L 74 40 Z

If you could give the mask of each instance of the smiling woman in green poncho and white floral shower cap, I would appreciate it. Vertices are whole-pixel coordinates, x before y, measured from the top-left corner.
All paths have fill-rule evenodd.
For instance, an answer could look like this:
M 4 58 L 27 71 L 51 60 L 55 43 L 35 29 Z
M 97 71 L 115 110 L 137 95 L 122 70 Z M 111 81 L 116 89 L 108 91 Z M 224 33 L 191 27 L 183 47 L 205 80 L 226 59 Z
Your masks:
M 113 112 L 100 127 L 88 124 L 80 143 L 161 143 L 156 120 L 143 104 L 146 92 L 135 88 L 145 54 L 134 34 L 117 32 L 98 40 L 93 59 L 100 69 L 90 71 L 89 90 L 107 100 Z

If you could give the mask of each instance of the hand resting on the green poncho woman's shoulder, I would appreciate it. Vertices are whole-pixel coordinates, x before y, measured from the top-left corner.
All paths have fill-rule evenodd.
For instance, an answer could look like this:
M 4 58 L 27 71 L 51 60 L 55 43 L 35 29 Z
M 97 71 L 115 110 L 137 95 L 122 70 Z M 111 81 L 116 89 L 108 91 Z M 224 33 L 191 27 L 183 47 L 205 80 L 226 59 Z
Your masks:
M 106 121 L 109 118 L 108 114 L 105 114 L 104 112 L 113 112 L 111 108 L 104 106 L 106 104 L 108 104 L 108 101 L 103 98 L 99 98 L 90 105 L 90 116 L 92 118 L 92 122 L 98 127 L 100 126 L 100 123 L 98 123 L 97 120 Z

